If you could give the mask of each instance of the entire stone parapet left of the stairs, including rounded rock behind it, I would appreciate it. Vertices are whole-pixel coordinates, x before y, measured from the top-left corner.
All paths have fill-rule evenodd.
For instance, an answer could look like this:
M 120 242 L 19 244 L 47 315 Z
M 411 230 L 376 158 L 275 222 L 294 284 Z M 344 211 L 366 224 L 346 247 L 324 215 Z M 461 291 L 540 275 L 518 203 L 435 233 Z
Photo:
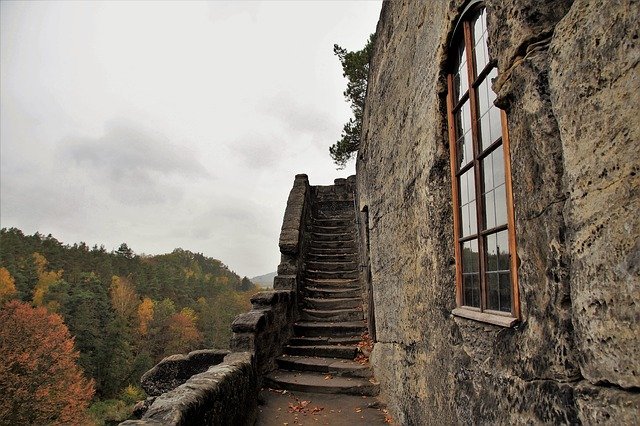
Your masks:
M 142 378 L 151 396 L 137 407 L 142 418 L 121 425 L 255 422 L 260 378 L 276 368 L 275 360 L 298 319 L 310 193 L 307 175 L 296 175 L 280 232 L 281 262 L 274 290 L 255 294 L 252 310 L 235 318 L 231 353 L 204 350 L 165 358 Z

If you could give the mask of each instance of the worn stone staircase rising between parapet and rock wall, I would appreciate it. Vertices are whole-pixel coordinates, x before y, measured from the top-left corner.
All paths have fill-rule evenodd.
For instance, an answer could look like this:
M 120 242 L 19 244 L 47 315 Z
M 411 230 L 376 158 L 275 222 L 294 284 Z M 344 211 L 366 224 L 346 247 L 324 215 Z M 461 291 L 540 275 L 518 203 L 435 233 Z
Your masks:
M 312 223 L 303 272 L 300 320 L 265 377 L 274 389 L 309 393 L 377 395 L 368 363 L 355 360 L 366 332 L 353 194 L 314 187 Z

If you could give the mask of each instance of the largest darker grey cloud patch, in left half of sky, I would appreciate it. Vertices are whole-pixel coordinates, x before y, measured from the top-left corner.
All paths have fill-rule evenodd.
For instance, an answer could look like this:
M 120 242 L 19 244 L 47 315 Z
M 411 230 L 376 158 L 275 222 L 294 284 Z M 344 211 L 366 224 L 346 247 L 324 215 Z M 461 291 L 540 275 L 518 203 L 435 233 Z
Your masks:
M 130 122 L 107 123 L 100 138 L 73 138 L 60 144 L 60 157 L 83 169 L 98 186 L 126 204 L 177 201 L 185 179 L 209 176 L 194 154 Z M 177 182 L 176 182 L 177 181 Z M 176 185 L 176 183 L 179 183 Z

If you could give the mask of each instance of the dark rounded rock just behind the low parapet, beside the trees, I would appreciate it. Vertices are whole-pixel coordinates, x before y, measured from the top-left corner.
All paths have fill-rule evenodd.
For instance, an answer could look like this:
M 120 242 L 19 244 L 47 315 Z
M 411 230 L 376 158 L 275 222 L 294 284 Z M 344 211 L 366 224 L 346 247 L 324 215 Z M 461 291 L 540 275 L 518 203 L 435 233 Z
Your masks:
M 220 364 L 228 354 L 229 351 L 222 349 L 203 349 L 188 355 L 171 355 L 144 373 L 140 384 L 147 395 L 161 395 L 177 388 L 194 374 Z

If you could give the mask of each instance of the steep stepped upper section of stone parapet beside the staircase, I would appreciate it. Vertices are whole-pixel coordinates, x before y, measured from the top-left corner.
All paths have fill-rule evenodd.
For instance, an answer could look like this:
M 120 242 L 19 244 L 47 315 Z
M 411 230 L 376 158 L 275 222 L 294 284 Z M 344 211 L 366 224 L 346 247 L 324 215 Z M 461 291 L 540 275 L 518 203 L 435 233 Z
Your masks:
M 253 309 L 238 315 L 231 326 L 231 350 L 254 353 L 259 375 L 276 368 L 275 359 L 282 354 L 298 318 L 297 294 L 305 250 L 304 230 L 310 216 L 309 194 L 307 175 L 296 175 L 280 232 L 281 262 L 273 281 L 274 290 L 254 295 Z

